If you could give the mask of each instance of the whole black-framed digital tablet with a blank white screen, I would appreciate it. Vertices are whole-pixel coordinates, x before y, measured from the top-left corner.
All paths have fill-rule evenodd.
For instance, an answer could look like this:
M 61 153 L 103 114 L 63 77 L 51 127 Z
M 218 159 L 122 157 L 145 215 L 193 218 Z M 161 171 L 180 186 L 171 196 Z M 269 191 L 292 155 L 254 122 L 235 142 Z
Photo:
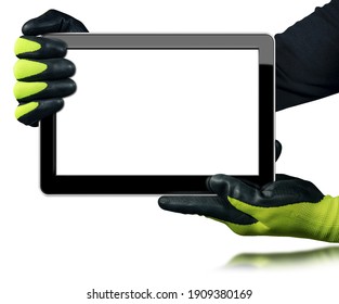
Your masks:
M 206 179 L 274 180 L 269 35 L 51 34 L 75 94 L 43 119 L 47 194 L 209 194 Z

